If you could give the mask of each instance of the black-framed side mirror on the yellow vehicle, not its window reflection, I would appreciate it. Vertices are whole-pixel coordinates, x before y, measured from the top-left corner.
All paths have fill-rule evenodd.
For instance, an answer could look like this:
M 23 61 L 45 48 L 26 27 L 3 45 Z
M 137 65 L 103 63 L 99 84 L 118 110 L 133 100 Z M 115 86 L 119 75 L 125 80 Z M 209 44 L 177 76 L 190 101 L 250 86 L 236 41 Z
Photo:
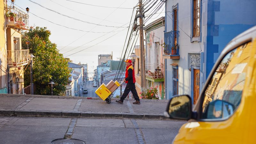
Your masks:
M 173 119 L 189 120 L 192 114 L 191 98 L 188 95 L 173 97 L 164 112 L 164 116 Z

